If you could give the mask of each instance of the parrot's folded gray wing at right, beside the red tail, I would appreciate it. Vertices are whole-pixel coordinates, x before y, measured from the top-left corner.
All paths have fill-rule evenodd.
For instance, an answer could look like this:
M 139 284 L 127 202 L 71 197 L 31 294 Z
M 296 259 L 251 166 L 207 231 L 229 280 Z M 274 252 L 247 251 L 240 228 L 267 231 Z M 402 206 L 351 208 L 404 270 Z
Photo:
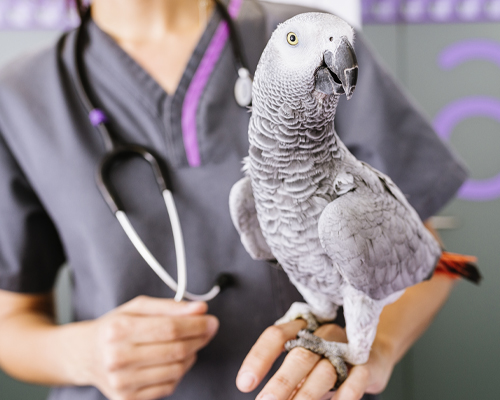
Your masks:
M 319 238 L 344 279 L 381 300 L 428 278 L 441 250 L 389 177 L 362 163 L 359 178 L 323 210 Z

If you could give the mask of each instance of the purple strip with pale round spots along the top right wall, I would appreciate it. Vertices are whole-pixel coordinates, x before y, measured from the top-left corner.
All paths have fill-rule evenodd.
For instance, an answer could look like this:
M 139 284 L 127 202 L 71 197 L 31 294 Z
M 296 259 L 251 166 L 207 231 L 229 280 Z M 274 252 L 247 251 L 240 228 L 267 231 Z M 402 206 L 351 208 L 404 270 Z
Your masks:
M 362 0 L 363 23 L 500 21 L 500 0 Z

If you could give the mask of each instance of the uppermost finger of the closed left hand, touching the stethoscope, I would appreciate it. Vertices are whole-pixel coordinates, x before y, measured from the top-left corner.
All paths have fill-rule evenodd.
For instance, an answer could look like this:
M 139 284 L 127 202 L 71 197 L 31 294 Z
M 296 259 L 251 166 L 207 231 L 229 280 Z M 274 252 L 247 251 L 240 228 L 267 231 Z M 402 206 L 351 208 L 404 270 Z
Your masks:
M 173 299 L 162 299 L 149 296 L 137 296 L 122 304 L 116 309 L 117 312 L 126 312 L 139 315 L 193 315 L 207 312 L 207 303 L 202 301 L 180 301 Z

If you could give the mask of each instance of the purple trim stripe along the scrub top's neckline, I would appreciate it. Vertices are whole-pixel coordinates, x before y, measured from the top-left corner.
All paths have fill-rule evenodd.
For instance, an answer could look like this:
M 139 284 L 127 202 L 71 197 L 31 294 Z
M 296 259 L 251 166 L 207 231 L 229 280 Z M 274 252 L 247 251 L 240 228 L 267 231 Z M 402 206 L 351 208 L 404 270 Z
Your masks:
M 231 18 L 236 18 L 240 12 L 243 0 L 232 0 L 228 5 L 228 12 Z M 198 146 L 198 131 L 196 127 L 196 112 L 200 103 L 203 90 L 208 83 L 215 64 L 226 45 L 229 38 L 229 27 L 226 21 L 221 21 L 215 31 L 212 41 L 208 45 L 207 51 L 200 62 L 193 80 L 189 85 L 182 106 L 182 137 L 186 157 L 191 167 L 198 167 L 201 164 L 200 149 Z

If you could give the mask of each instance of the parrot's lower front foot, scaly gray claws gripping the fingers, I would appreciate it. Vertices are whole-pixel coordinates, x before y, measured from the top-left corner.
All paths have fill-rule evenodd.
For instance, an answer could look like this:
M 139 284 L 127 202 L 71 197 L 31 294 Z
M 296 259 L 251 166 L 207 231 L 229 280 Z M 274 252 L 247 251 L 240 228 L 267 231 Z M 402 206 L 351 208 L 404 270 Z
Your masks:
M 312 351 L 315 354 L 327 358 L 332 363 L 335 371 L 337 371 L 337 381 L 335 382 L 333 390 L 338 389 L 347 379 L 347 364 L 342 357 L 347 350 L 346 343 L 329 342 L 314 335 L 307 329 L 303 329 L 297 334 L 297 339 L 289 340 L 285 344 L 285 349 L 287 351 L 295 347 L 302 347 Z

